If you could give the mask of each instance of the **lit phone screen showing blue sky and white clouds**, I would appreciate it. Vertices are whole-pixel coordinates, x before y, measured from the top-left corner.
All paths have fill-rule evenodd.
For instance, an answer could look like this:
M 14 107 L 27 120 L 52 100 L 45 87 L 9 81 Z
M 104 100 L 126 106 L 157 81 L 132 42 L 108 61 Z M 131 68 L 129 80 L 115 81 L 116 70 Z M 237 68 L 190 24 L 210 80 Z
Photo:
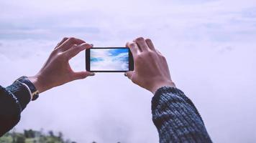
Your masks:
M 128 71 L 129 49 L 91 49 L 92 71 Z

